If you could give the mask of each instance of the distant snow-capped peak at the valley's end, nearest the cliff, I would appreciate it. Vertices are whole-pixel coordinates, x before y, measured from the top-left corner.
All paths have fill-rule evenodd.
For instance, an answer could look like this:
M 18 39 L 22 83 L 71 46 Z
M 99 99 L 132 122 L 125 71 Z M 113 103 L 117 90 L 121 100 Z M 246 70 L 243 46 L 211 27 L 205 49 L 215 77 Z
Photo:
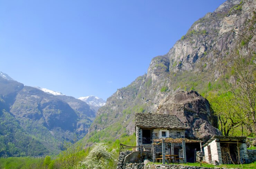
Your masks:
M 96 112 L 99 110 L 100 107 L 106 105 L 106 101 L 105 100 L 103 100 L 101 98 L 98 98 L 96 96 L 86 96 L 86 97 L 80 97 L 78 99 L 86 102 Z

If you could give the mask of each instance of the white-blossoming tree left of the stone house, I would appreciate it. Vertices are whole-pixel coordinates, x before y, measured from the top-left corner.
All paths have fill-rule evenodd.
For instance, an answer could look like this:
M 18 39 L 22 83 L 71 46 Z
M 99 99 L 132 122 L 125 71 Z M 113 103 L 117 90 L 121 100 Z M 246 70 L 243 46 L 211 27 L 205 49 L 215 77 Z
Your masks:
M 83 169 L 104 169 L 109 168 L 109 163 L 115 161 L 113 155 L 116 153 L 116 149 L 111 152 L 108 151 L 109 147 L 104 143 L 96 143 L 88 156 L 81 161 L 80 168 Z

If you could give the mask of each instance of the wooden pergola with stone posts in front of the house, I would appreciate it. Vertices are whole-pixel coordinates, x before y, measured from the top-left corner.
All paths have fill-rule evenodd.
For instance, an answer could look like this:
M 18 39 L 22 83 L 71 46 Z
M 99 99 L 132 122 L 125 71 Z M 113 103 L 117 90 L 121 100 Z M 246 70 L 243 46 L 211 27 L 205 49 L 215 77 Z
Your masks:
M 174 143 L 182 143 L 182 150 L 183 150 L 183 162 L 186 163 L 186 143 L 200 143 L 200 149 L 202 151 L 202 141 L 200 140 L 191 140 L 186 138 L 160 138 L 160 139 L 154 139 L 152 143 L 153 148 L 153 162 L 156 160 L 156 145 L 162 144 L 162 155 L 163 155 L 163 164 L 165 164 L 165 147 L 166 143 L 171 143 L 171 155 L 174 155 Z

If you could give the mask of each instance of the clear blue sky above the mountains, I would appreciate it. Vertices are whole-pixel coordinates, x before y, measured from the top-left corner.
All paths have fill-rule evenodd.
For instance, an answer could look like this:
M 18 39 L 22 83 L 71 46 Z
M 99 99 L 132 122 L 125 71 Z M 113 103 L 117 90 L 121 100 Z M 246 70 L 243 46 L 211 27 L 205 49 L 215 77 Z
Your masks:
M 0 0 L 0 71 L 107 99 L 225 0 Z

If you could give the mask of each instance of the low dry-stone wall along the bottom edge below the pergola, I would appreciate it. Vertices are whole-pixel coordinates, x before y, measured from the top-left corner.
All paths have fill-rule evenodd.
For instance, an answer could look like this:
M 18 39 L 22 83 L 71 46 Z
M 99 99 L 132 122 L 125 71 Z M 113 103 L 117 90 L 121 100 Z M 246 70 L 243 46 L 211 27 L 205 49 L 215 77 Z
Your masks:
M 208 167 L 195 167 L 195 166 L 181 166 L 181 165 L 167 165 L 167 164 L 152 164 L 147 165 L 144 167 L 144 169 L 157 169 L 157 168 L 164 168 L 164 169 L 213 169 Z M 215 168 L 216 169 L 216 168 Z M 223 169 L 223 168 L 218 168 Z

